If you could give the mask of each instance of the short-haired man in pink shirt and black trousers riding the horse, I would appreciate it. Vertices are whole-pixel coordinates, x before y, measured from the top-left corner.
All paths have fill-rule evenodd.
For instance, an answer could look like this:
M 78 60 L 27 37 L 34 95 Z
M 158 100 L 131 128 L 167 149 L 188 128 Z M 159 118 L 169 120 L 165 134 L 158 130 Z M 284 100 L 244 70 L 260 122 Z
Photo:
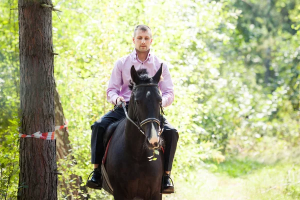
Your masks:
M 146 68 L 149 75 L 153 76 L 159 69 L 162 61 L 150 52 L 152 42 L 151 29 L 147 25 L 137 25 L 134 29 L 132 41 L 135 45 L 133 52 L 119 58 L 112 70 L 108 88 L 106 90 L 107 101 L 117 104 L 124 101 L 128 104 L 131 90 L 128 88 L 130 68 L 134 65 L 135 69 Z M 162 93 L 162 106 L 166 107 L 173 102 L 173 83 L 169 70 L 165 64 L 162 69 L 163 80 L 158 83 Z M 91 163 L 94 165 L 93 175 L 86 182 L 86 186 L 101 189 L 102 179 L 100 174 L 100 164 L 104 154 L 103 134 L 106 127 L 113 121 L 125 116 L 123 109 L 115 109 L 107 112 L 101 119 L 91 125 Z M 165 140 L 164 149 L 164 176 L 163 192 L 174 192 L 174 187 L 170 182 L 169 174 L 176 150 L 178 132 L 165 120 L 162 135 Z

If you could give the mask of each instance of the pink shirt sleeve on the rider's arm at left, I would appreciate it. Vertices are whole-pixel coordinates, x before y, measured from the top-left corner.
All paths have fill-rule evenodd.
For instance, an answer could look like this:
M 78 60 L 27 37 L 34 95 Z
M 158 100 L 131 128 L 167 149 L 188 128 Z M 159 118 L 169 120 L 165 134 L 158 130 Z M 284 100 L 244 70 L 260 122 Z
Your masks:
M 118 59 L 112 69 L 108 87 L 106 89 L 106 99 L 112 104 L 116 104 L 115 100 L 119 96 L 122 85 L 122 62 Z

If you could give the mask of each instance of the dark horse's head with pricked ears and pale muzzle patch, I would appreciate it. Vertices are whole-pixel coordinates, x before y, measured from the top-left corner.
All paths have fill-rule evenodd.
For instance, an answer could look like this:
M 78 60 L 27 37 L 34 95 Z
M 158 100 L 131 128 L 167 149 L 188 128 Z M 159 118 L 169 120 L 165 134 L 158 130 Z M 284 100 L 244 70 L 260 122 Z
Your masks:
M 135 70 L 132 65 L 131 82 L 132 90 L 129 109 L 132 109 L 137 125 L 141 127 L 146 138 L 148 148 L 160 147 L 159 124 L 161 95 L 158 82 L 162 72 L 162 63 L 154 76 L 149 76 L 146 69 Z

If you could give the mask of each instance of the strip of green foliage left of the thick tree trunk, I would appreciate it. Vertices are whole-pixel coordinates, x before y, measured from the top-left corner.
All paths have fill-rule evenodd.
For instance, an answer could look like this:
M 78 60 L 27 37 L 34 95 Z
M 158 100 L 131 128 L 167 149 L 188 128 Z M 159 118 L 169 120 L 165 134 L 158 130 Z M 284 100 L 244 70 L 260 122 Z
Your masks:
M 16 0 L 4 0 L 0 7 L 0 199 L 15 199 L 18 187 L 18 16 L 17 10 L 10 10 L 14 5 Z

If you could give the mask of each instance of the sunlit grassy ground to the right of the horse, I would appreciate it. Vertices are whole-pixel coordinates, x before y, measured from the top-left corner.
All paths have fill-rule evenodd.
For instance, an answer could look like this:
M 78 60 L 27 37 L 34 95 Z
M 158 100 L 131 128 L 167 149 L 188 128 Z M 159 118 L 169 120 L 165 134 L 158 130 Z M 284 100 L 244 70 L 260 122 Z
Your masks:
M 300 148 L 274 142 L 174 177 L 175 194 L 163 199 L 300 199 Z

